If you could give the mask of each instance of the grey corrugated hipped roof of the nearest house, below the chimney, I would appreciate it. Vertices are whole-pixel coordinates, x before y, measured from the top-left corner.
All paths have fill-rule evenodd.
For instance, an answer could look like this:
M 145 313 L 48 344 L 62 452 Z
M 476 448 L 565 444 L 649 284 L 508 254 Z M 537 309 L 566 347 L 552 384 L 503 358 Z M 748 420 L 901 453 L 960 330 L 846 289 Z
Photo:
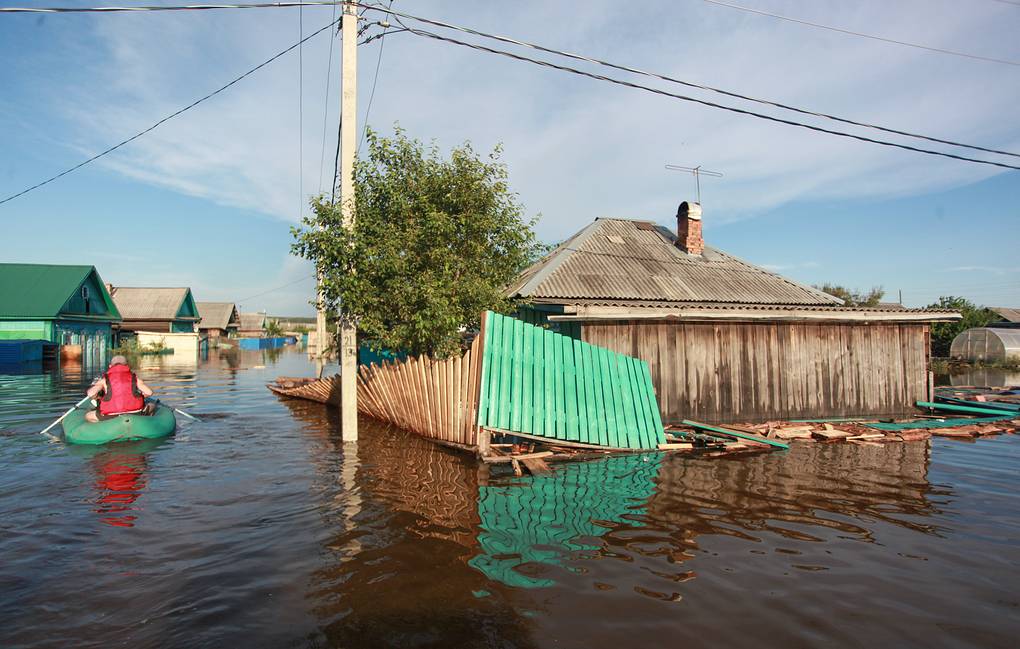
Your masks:
M 707 247 L 691 255 L 675 235 L 651 223 L 599 218 L 521 273 L 523 298 L 839 305 L 817 289 Z

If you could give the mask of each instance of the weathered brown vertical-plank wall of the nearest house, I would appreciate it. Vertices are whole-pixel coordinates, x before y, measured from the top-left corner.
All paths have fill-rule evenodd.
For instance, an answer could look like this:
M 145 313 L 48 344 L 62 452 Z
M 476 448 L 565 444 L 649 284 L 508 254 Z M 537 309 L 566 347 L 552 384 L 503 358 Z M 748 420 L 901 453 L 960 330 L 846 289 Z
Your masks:
M 927 398 L 924 323 L 585 322 L 647 361 L 663 421 L 897 415 Z

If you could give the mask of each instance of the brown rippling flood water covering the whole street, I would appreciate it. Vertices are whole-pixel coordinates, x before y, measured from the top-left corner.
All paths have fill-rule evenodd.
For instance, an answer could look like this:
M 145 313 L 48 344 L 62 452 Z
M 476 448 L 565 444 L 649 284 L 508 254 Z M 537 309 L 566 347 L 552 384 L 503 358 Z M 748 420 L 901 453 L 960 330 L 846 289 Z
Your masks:
M 514 479 L 265 384 L 141 373 L 160 443 L 38 435 L 94 370 L 0 376 L 0 647 L 1015 647 L 1020 436 L 620 456 Z

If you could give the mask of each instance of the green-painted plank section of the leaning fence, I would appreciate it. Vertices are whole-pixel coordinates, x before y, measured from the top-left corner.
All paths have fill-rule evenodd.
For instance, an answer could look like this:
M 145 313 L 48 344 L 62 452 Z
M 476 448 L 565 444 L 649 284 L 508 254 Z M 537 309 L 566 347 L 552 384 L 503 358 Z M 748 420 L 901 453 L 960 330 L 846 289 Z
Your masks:
M 648 363 L 492 311 L 478 426 L 614 448 L 666 441 Z

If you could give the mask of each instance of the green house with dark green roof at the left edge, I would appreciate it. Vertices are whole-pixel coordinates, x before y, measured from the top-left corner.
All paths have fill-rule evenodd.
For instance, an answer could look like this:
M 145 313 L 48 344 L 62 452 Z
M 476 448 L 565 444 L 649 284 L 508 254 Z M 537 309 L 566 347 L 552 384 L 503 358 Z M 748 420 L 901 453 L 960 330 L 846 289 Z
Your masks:
M 120 312 L 95 266 L 0 263 L 0 340 L 81 345 L 85 354 L 112 345 Z

